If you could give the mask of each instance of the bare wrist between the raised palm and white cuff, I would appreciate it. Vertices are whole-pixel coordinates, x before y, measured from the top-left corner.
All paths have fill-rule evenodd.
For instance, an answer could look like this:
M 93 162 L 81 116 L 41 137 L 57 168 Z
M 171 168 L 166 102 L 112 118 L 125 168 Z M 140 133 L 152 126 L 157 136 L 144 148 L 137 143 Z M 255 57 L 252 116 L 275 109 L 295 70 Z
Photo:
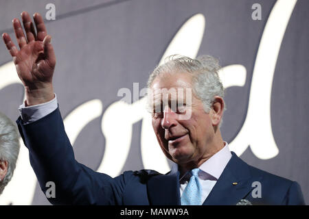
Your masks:
M 52 85 L 37 89 L 25 87 L 25 97 L 25 106 L 47 103 L 55 98 L 54 88 Z

